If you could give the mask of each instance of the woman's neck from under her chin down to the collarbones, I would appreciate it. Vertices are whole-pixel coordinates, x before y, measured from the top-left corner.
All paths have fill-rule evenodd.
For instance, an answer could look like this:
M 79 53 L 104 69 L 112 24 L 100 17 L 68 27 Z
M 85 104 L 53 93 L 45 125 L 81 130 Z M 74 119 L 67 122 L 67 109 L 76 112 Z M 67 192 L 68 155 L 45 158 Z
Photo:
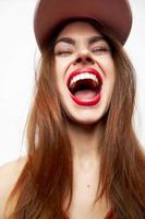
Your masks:
M 80 125 L 69 122 L 68 132 L 72 143 L 74 160 L 95 161 L 99 157 L 99 146 L 104 136 L 104 128 L 100 123 Z

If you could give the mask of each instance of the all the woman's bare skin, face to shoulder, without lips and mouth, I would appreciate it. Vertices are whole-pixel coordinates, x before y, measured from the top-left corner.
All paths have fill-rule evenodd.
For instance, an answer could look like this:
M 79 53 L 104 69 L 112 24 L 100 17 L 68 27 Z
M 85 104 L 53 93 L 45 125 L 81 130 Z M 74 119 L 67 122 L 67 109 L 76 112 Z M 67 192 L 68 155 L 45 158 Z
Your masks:
M 57 54 L 55 58 L 57 85 L 62 105 L 68 114 L 68 131 L 73 147 L 74 182 L 73 199 L 68 212 L 70 219 L 105 219 L 110 210 L 110 204 L 107 204 L 105 198 L 93 206 L 99 180 L 100 155 L 98 148 L 104 136 L 100 119 L 109 107 L 114 83 L 114 66 L 107 43 L 101 41 L 95 42 L 92 45 L 88 44 L 89 39 L 96 35 L 97 37 L 100 36 L 90 25 L 77 22 L 64 28 L 59 35 L 59 39 L 61 38 L 61 41 L 63 37 L 71 37 L 75 42 L 75 46 L 61 42 L 55 48 Z M 105 51 L 100 49 L 101 47 L 105 48 Z M 62 53 L 62 49 L 67 50 Z M 59 53 L 60 50 L 61 53 Z M 76 61 L 78 57 L 81 58 L 81 62 Z M 100 103 L 96 106 L 85 108 L 72 102 L 67 94 L 68 88 L 65 85 L 70 72 L 84 67 L 97 69 L 104 79 Z M 3 218 L 7 199 L 25 162 L 26 158 L 0 169 L 1 219 Z M 64 203 L 64 209 L 67 201 Z

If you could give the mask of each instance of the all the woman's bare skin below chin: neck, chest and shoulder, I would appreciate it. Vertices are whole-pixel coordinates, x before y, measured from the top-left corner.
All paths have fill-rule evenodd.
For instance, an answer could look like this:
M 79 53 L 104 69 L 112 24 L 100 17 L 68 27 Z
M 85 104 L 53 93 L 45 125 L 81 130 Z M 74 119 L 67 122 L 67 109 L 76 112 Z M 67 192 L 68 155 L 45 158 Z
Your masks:
M 70 126 L 71 128 L 69 128 Z M 105 198 L 97 201 L 95 206 L 93 205 L 99 178 L 99 154 L 96 152 L 96 148 L 98 148 L 98 145 L 101 142 L 100 134 L 102 130 L 101 128 L 98 128 L 98 130 L 96 128 L 93 135 L 93 131 L 90 131 L 88 127 L 84 126 L 84 128 L 82 128 L 81 126 L 77 126 L 76 128 L 71 122 L 69 127 L 69 136 L 73 142 L 74 153 L 74 184 L 73 199 L 68 211 L 68 216 L 70 219 L 105 219 L 111 208 L 110 205 L 106 203 Z M 75 131 L 73 131 L 73 128 L 75 128 Z M 21 175 L 25 163 L 26 158 L 22 158 L 0 168 L 1 219 L 3 218 L 3 211 L 8 197 Z M 68 200 L 64 203 L 64 210 L 67 203 Z M 9 212 L 12 212 L 14 204 L 11 205 Z

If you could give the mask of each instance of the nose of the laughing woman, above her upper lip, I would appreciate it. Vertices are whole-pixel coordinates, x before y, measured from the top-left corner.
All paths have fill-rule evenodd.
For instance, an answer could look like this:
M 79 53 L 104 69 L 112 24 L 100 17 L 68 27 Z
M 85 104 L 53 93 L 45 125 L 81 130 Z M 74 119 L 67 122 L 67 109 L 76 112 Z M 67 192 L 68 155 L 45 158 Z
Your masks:
M 82 53 L 80 53 L 77 55 L 77 57 L 74 60 L 74 65 L 78 65 L 78 64 L 82 64 L 82 65 L 94 65 L 95 60 L 94 60 L 94 58 L 92 57 L 92 55 L 89 53 L 82 51 Z

